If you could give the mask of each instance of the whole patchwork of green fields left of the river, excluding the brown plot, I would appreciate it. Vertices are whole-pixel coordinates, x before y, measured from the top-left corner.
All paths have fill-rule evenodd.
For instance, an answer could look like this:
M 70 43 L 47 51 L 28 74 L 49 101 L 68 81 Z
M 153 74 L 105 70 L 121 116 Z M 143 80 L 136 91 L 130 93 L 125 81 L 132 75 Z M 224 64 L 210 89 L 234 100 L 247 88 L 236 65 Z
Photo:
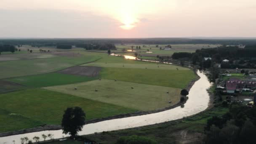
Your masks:
M 67 107 L 82 107 L 86 120 L 170 107 L 179 102 L 181 88 L 195 79 L 184 67 L 108 56 L 106 51 L 79 53 L 51 58 L 45 53 L 5 54 L 0 61 L 0 132 L 60 124 Z M 98 77 L 57 73 L 76 65 L 102 69 Z

